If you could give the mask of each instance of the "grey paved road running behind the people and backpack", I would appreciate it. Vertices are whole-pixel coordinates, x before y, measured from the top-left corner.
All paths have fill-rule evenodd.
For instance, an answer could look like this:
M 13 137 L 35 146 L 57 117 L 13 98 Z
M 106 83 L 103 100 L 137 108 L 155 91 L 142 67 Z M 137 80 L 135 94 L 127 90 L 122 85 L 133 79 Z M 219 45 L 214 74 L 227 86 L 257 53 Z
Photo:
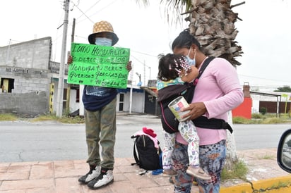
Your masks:
M 154 116 L 117 116 L 115 156 L 132 157 L 134 132 L 150 127 L 162 144 L 160 120 Z M 276 148 L 291 125 L 234 125 L 237 150 Z M 52 121 L 0 122 L 0 162 L 85 159 L 85 125 Z

